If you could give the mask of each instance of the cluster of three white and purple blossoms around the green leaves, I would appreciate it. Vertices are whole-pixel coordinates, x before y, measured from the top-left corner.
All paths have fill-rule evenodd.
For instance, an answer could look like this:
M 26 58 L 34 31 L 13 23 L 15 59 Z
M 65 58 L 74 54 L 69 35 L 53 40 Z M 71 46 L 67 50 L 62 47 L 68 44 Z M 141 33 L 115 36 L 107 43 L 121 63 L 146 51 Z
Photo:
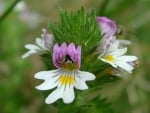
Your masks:
M 125 55 L 127 52 L 126 45 L 131 42 L 117 39 L 117 25 L 113 20 L 107 17 L 96 17 L 96 21 L 102 36 L 95 50 L 99 54 L 98 59 L 110 64 L 114 70 L 123 69 L 132 73 L 137 57 Z M 88 89 L 86 81 L 94 80 L 95 75 L 90 72 L 80 71 L 82 45 L 76 45 L 73 40 L 72 43 L 66 43 L 64 40 L 64 42 L 61 44 L 59 42 L 58 44 L 55 41 L 55 37 L 47 33 L 46 29 L 42 31 L 41 38 L 36 39 L 36 45 L 25 45 L 25 48 L 29 51 L 22 58 L 33 54 L 52 53 L 52 62 L 56 69 L 36 73 L 34 75 L 36 79 L 44 80 L 42 84 L 36 86 L 36 89 L 50 90 L 55 88 L 46 98 L 45 102 L 47 104 L 52 104 L 60 98 L 64 103 L 72 103 L 75 98 L 74 88 L 79 90 Z

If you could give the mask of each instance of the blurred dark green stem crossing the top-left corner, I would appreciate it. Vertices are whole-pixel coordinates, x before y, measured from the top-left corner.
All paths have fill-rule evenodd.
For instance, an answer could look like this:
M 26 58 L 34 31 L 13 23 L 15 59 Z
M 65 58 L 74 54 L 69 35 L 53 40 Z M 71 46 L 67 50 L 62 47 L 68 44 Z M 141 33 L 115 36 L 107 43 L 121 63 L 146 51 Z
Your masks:
M 15 0 L 10 7 L 8 7 L 8 9 L 2 14 L 2 16 L 0 17 L 0 22 L 3 21 L 8 14 L 13 10 L 13 8 L 17 5 L 18 2 L 20 2 L 21 0 Z

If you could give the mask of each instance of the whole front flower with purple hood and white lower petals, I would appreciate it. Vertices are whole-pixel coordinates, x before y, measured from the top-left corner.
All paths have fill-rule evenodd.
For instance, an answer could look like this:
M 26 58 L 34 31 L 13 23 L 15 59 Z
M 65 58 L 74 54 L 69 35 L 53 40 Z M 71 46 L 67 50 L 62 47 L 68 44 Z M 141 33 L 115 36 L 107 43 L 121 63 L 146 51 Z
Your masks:
M 58 99 L 64 103 L 72 103 L 75 99 L 74 87 L 79 90 L 86 90 L 86 81 L 94 80 L 92 73 L 80 71 L 81 46 L 75 48 L 73 43 L 67 47 L 63 43 L 60 47 L 55 44 L 53 47 L 53 63 L 58 69 L 41 71 L 35 74 L 35 78 L 42 79 L 44 82 L 36 86 L 38 90 L 56 89 L 46 98 L 45 103 L 52 104 Z

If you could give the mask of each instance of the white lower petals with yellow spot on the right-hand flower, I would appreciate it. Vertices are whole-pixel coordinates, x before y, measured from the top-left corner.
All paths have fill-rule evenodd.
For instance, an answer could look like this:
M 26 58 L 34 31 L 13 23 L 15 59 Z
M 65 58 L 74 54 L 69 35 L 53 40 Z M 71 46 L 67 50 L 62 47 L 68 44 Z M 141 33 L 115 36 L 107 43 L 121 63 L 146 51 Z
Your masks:
M 127 48 L 119 48 L 119 46 L 120 41 L 115 40 L 115 42 L 106 50 L 106 52 L 99 56 L 99 59 L 106 63 L 109 63 L 114 68 L 119 67 L 129 73 L 132 73 L 134 66 L 130 65 L 129 62 L 136 61 L 137 57 L 124 55 L 127 52 Z

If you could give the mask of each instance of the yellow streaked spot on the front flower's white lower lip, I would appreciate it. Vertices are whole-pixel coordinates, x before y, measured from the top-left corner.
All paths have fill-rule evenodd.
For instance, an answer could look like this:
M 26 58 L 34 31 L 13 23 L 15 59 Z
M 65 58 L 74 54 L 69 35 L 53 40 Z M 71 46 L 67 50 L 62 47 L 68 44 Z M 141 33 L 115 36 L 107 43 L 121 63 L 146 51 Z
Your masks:
M 62 85 L 71 85 L 74 83 L 74 81 L 75 81 L 75 78 L 72 75 L 61 75 L 59 78 L 59 82 Z

